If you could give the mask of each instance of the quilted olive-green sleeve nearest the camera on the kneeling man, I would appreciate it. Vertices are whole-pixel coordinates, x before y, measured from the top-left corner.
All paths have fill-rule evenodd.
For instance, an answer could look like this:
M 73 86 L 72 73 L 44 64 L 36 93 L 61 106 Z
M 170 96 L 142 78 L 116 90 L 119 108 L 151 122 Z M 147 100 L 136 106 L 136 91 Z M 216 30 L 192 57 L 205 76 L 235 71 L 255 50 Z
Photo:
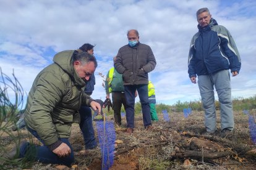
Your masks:
M 51 145 L 58 141 L 51 113 L 61 101 L 66 89 L 66 83 L 60 76 L 53 75 L 53 73 L 46 72 L 38 78 L 30 115 L 35 130 L 45 145 Z

